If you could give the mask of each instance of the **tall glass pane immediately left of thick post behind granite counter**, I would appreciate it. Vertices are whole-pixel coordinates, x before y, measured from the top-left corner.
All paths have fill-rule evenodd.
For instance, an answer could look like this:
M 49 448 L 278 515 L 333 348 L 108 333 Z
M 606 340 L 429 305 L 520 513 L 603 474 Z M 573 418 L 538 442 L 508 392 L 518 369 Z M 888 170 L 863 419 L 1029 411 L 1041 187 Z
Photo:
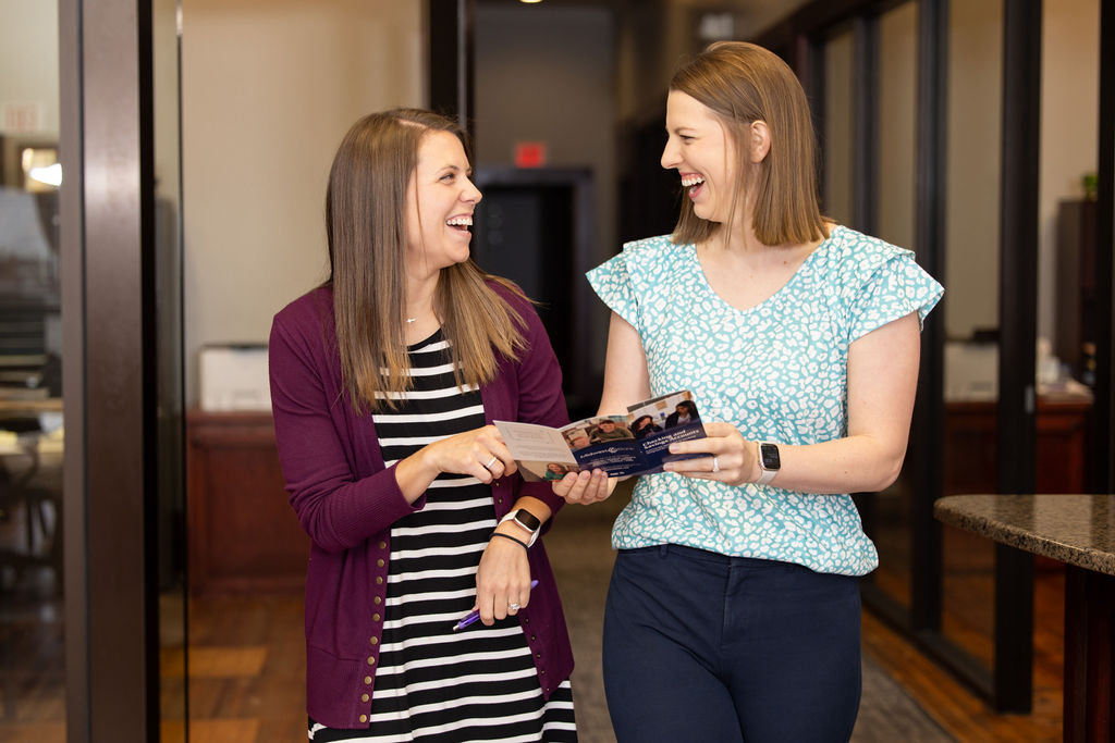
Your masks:
M 944 495 L 996 491 L 1002 2 L 950 3 Z M 995 547 L 942 526 L 944 637 L 990 668 Z

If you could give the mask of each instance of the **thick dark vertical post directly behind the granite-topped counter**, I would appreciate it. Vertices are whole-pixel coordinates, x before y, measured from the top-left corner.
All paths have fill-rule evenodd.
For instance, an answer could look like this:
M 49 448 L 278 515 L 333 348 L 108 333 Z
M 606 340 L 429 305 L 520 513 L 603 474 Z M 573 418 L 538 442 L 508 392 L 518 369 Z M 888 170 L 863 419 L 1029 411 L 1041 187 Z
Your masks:
M 1004 3 L 999 201 L 998 491 L 1032 493 L 1037 472 L 1041 0 Z M 996 545 L 995 706 L 1028 713 L 1034 675 L 1034 556 Z

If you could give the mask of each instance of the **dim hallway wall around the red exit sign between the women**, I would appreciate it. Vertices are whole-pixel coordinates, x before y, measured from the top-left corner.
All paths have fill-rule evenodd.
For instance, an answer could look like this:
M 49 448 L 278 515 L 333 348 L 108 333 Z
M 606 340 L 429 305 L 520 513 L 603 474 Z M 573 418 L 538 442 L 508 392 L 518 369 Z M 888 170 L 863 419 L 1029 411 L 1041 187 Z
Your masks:
M 476 165 L 512 167 L 516 141 L 540 140 L 547 166 L 590 169 L 590 265 L 620 248 L 614 39 L 612 14 L 603 8 L 481 3 L 476 10 Z M 590 373 L 602 374 L 608 312 L 592 299 L 586 313 L 588 327 L 579 332 Z

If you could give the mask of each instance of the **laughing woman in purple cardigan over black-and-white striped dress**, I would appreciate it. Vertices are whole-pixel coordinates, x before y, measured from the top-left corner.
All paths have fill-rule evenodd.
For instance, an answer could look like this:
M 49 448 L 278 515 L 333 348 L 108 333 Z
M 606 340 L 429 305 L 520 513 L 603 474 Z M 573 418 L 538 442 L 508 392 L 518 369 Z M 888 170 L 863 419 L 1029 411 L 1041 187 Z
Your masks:
M 468 257 L 471 174 L 440 116 L 357 121 L 326 196 L 330 277 L 272 325 L 279 456 L 312 539 L 316 742 L 576 740 L 535 541 L 563 500 L 492 426 L 565 424 L 561 370 L 531 303 Z

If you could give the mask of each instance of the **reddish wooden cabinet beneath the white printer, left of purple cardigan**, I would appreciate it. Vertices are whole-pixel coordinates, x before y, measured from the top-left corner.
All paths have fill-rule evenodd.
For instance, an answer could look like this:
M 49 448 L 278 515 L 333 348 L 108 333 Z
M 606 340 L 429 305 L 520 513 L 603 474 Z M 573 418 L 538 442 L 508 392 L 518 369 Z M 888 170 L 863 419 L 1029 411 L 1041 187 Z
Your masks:
M 270 412 L 186 416 L 193 594 L 301 588 L 310 539 L 287 499 Z

